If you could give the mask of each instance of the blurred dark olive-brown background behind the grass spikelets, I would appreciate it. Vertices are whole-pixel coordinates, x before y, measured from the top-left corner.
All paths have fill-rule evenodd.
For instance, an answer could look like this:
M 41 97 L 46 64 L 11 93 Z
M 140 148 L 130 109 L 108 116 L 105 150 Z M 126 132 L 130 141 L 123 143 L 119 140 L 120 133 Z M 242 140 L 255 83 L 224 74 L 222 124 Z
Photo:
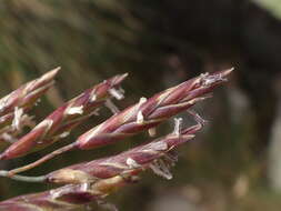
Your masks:
M 42 120 L 63 101 L 129 72 L 126 108 L 201 72 L 234 67 L 230 82 L 195 109 L 210 123 L 180 150 L 165 181 L 141 182 L 110 197 L 129 211 L 279 211 L 281 208 L 281 2 L 279 0 L 9 0 L 0 3 L 0 94 L 58 66 L 56 88 L 32 110 Z M 111 113 L 103 109 L 64 141 L 2 162 L 11 169 L 73 141 Z M 194 123 L 183 114 L 187 124 Z M 172 122 L 159 135 L 172 130 Z M 107 148 L 66 153 L 28 172 L 40 175 L 121 152 L 142 133 Z M 50 184 L 1 178 L 0 199 Z

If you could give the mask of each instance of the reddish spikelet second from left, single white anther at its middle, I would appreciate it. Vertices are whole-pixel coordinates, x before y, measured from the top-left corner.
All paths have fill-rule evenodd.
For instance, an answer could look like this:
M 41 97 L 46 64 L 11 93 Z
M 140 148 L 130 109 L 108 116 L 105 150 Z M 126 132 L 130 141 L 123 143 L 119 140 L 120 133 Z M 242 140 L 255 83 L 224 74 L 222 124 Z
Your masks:
M 111 90 L 119 88 L 126 77 L 127 74 L 120 74 L 104 80 L 64 103 L 28 134 L 10 145 L 1 154 L 1 159 L 22 157 L 67 137 L 84 119 L 97 113 L 97 109 L 110 98 Z

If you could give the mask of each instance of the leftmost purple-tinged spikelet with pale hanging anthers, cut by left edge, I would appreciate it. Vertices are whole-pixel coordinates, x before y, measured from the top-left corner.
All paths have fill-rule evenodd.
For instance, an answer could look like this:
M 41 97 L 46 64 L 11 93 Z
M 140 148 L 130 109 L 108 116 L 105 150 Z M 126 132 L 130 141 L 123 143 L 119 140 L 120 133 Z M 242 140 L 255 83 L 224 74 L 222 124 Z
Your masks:
M 12 143 L 23 127 L 33 125 L 31 118 L 26 112 L 54 83 L 53 79 L 59 69 L 44 73 L 0 99 L 0 142 Z

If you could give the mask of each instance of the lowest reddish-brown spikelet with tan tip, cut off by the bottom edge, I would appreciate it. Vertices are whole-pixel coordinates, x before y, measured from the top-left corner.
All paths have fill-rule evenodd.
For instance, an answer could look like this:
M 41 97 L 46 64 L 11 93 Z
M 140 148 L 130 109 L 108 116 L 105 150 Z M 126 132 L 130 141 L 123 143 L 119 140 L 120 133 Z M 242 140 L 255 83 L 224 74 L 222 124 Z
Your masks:
M 69 184 L 41 193 L 21 195 L 0 202 L 0 211 L 78 210 L 90 202 L 102 200 L 130 180 L 130 178 L 114 177 L 93 184 Z

